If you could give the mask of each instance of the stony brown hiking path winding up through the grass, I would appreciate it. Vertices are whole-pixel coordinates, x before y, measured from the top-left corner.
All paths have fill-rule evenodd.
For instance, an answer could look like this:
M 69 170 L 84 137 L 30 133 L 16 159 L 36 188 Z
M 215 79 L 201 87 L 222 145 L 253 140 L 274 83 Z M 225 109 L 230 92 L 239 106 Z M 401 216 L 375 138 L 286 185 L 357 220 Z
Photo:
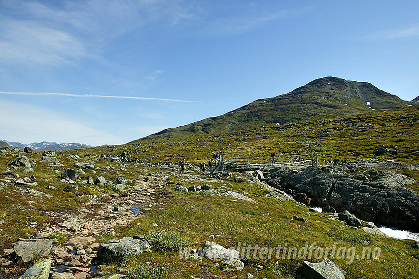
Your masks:
M 98 264 L 94 262 L 99 247 L 97 240 L 102 236 L 114 236 L 113 227 L 127 225 L 157 205 L 153 197 L 155 190 L 165 187 L 169 177 L 164 173 L 139 175 L 126 192 L 110 196 L 103 194 L 103 197 L 89 195 L 89 202 L 80 209 L 64 214 L 49 213 L 49 217 L 59 220 L 56 224 L 44 226 L 35 239 L 19 239 L 12 248 L 4 250 L 6 256 L 0 258 L 0 277 L 18 278 L 26 268 L 14 266 L 13 257 L 21 257 L 26 262 L 34 258 L 36 251 L 43 249 L 50 251 L 48 257 L 52 262 L 53 279 L 91 278 Z M 57 245 L 49 240 L 51 235 L 66 235 L 68 240 Z

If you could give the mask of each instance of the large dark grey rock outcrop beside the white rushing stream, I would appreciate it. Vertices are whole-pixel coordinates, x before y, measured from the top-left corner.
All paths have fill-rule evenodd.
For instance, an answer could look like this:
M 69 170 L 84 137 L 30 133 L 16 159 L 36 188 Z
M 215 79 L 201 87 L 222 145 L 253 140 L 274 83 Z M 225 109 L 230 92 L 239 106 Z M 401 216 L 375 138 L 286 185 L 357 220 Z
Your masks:
M 403 187 L 414 179 L 365 162 L 344 162 L 321 168 L 275 170 L 266 181 L 276 188 L 306 194 L 312 205 L 349 210 L 358 218 L 419 231 L 419 197 Z M 358 225 L 356 220 L 352 225 Z

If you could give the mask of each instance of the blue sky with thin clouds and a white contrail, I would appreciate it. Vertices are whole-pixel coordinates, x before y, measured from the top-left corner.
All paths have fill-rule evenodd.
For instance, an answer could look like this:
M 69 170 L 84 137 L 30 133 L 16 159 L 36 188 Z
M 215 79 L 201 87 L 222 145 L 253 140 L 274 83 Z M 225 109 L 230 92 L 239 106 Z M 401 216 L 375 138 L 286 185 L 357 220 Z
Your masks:
M 122 144 L 337 76 L 419 95 L 418 1 L 0 0 L 0 139 Z

